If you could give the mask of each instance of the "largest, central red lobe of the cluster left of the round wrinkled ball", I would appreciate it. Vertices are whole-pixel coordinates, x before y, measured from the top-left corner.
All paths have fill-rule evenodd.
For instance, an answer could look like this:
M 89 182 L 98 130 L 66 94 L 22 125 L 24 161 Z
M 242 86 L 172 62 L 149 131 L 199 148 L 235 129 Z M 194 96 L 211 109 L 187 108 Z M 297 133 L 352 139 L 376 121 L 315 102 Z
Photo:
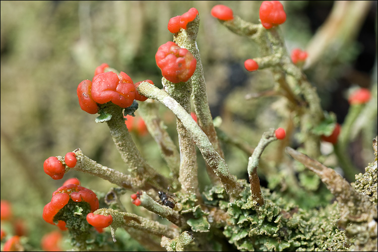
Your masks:
M 97 103 L 104 104 L 111 101 L 122 108 L 127 108 L 133 104 L 135 93 L 133 80 L 123 72 L 118 76 L 114 72 L 106 72 L 93 78 L 91 94 Z

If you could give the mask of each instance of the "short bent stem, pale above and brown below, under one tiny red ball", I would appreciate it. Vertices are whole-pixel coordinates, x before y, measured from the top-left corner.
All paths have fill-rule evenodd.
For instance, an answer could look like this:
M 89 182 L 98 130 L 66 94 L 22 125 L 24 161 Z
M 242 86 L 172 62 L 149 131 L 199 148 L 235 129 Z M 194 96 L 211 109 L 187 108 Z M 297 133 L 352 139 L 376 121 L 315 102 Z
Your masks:
M 264 205 L 264 198 L 261 193 L 260 179 L 257 175 L 257 167 L 259 165 L 260 157 L 261 154 L 263 154 L 264 149 L 268 146 L 268 144 L 272 143 L 275 140 L 277 140 L 277 138 L 273 129 L 269 132 L 265 132 L 258 145 L 256 146 L 254 153 L 248 159 L 247 171 L 250 183 L 250 193 L 252 195 L 252 198 L 257 202 L 258 206 Z

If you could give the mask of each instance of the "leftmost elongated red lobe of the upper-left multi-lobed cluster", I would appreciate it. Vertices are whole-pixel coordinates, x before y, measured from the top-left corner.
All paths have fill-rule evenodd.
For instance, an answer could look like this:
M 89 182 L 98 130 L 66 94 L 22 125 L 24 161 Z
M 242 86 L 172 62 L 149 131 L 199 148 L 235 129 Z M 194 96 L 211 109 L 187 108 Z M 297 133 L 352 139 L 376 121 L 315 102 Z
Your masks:
M 98 112 L 97 103 L 92 99 L 91 95 L 92 82 L 90 80 L 82 81 L 76 90 L 79 98 L 81 109 L 90 114 Z

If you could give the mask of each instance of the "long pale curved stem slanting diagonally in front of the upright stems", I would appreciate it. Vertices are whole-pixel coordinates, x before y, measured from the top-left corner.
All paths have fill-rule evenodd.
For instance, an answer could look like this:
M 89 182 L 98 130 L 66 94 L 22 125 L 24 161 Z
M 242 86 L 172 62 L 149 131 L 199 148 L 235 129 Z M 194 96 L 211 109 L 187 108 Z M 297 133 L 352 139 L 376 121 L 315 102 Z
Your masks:
M 200 129 L 199 125 L 193 120 L 185 109 L 172 99 L 164 90 L 160 90 L 148 82 L 142 82 L 138 86 L 138 92 L 148 98 L 155 99 L 163 103 L 180 119 L 185 129 L 191 134 L 193 141 L 200 149 L 205 161 L 210 165 L 215 174 L 220 178 L 226 192 L 232 197 L 237 198 L 242 191 L 242 186 L 230 174 L 224 159 L 214 149 L 209 138 Z

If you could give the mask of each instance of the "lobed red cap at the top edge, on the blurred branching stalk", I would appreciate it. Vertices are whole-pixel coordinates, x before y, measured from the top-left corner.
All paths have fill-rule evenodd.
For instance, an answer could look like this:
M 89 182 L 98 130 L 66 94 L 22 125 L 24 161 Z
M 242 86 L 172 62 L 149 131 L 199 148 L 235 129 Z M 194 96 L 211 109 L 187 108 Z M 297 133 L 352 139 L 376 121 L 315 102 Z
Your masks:
M 264 1 L 260 6 L 261 24 L 266 29 L 281 25 L 286 21 L 286 13 L 279 1 Z

